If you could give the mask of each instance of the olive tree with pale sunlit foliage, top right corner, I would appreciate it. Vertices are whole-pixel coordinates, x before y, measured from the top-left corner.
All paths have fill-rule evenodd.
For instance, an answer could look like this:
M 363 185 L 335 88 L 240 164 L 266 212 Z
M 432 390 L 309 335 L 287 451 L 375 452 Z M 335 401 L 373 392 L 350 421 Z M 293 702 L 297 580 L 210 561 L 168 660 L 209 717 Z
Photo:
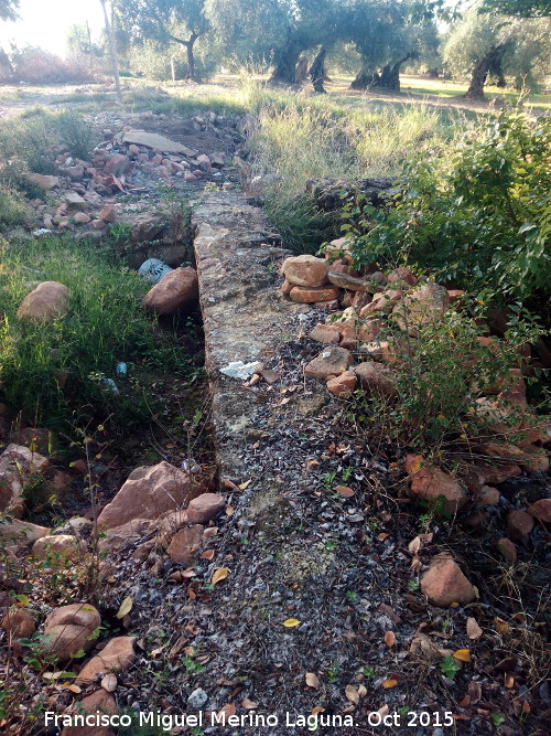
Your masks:
M 469 99 L 484 99 L 484 86 L 494 75 L 501 84 L 505 73 L 516 77 L 518 88 L 536 87 L 549 72 L 549 21 L 479 13 L 472 8 L 451 31 L 444 62 L 454 76 L 471 74 Z

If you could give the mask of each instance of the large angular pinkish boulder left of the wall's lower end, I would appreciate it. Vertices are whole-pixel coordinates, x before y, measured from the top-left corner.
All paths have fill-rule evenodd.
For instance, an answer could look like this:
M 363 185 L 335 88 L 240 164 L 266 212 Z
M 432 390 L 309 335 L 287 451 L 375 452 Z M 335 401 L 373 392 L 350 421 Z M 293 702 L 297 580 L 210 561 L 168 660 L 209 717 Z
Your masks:
M 132 519 L 158 519 L 165 511 L 185 506 L 202 490 L 183 470 L 164 460 L 151 468 L 137 468 L 99 514 L 98 526 L 112 529 Z

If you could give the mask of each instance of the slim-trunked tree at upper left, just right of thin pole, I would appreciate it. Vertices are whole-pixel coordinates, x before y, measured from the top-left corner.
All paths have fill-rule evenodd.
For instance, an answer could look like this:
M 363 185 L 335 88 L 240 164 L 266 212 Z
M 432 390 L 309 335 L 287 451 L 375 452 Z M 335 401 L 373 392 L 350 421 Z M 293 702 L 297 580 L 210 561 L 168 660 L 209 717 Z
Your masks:
M 194 46 L 209 29 L 205 0 L 120 0 L 118 13 L 136 41 L 174 41 L 184 46 L 186 76 L 197 81 Z

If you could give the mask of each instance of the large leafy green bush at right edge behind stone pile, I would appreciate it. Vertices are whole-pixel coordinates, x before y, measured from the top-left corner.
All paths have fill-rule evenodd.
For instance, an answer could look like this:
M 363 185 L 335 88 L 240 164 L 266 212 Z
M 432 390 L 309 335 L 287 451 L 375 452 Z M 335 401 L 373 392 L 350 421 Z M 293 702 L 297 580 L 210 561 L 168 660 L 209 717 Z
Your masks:
M 357 263 L 409 262 L 497 301 L 551 295 L 551 120 L 503 110 L 441 154 L 413 153 L 377 211 L 352 198 Z

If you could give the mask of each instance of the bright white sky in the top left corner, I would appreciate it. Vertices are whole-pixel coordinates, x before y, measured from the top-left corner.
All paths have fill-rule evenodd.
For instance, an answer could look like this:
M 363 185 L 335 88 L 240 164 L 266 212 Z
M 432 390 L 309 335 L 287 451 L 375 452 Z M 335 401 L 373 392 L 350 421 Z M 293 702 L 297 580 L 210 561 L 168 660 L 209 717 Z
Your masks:
M 75 23 L 90 24 L 93 40 L 97 40 L 102 26 L 99 0 L 20 0 L 20 20 L 14 23 L 0 21 L 0 47 L 30 44 L 65 56 L 68 29 Z

